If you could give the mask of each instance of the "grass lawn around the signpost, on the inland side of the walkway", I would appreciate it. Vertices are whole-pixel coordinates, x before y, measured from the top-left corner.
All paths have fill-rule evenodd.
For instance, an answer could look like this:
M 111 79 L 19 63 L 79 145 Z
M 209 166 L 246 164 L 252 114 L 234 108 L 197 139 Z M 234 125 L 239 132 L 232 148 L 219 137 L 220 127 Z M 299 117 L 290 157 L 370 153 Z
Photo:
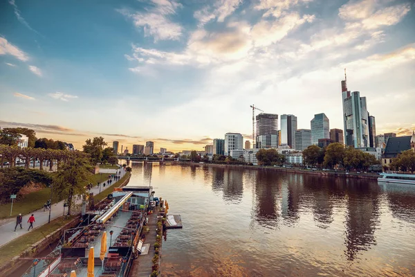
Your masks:
M 19 202 L 13 203 L 12 217 L 17 216 L 19 213 L 26 215 L 33 211 L 43 208 L 46 201 L 50 197 L 50 188 L 44 188 L 35 193 L 29 193 L 24 198 L 20 199 Z M 12 203 L 0 205 L 0 219 L 10 217 L 10 206 Z

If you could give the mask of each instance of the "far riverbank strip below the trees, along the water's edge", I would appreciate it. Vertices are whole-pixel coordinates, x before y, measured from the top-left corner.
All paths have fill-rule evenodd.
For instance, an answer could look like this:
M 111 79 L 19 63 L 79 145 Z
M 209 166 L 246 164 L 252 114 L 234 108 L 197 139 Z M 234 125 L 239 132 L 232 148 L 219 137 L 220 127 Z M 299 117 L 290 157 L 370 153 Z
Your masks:
M 279 172 L 288 172 L 295 174 L 307 174 L 307 175 L 318 175 L 322 177 L 340 177 L 340 178 L 351 178 L 351 179 L 367 179 L 367 180 L 377 180 L 378 175 L 376 173 L 357 173 L 357 172 L 344 172 L 344 171 L 333 171 L 333 170 L 306 170 L 300 168 L 279 168 L 274 166 L 238 166 L 238 165 L 228 165 L 220 163 L 192 163 L 192 162 L 178 162 L 177 164 L 182 164 L 186 166 L 212 166 L 219 168 L 239 168 L 239 169 L 249 169 L 249 170 L 262 170 L 262 171 L 279 171 Z

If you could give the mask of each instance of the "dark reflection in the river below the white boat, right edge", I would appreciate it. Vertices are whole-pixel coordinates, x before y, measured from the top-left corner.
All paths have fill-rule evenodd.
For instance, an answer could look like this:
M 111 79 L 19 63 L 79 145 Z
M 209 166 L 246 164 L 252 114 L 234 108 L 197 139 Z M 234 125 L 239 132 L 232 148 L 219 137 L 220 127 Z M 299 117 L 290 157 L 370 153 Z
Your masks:
M 387 184 L 381 188 L 387 195 L 392 215 L 399 220 L 415 223 L 415 186 Z

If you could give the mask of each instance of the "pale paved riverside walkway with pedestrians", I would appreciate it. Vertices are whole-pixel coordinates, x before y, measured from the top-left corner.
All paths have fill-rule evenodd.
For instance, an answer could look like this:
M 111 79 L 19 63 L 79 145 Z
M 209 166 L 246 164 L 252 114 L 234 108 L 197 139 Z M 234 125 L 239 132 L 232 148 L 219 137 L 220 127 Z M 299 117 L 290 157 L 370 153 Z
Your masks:
M 119 169 L 119 171 L 121 172 L 119 175 L 121 179 L 125 175 L 126 171 L 124 170 L 124 168 Z M 105 188 L 108 188 L 107 185 L 105 187 L 103 186 L 105 182 L 107 182 L 107 180 L 101 183 L 101 186 L 102 186 L 101 191 L 105 190 Z M 93 193 L 93 195 L 98 195 L 98 193 L 100 193 L 100 187 L 93 186 L 90 192 Z M 82 201 L 81 199 L 78 199 L 76 204 L 80 204 L 81 201 Z M 19 204 L 16 203 L 15 205 L 19 205 Z M 65 207 L 65 213 L 67 211 L 68 211 L 68 208 Z M 0 233 L 1 233 L 0 247 L 3 244 L 7 244 L 8 242 L 15 240 L 16 238 L 19 238 L 21 235 L 28 233 L 28 227 L 29 227 L 28 219 L 31 214 L 32 213 L 28 215 L 23 215 L 23 222 L 21 224 L 21 226 L 23 226 L 23 229 L 20 229 L 20 226 L 17 226 L 16 231 L 14 231 L 15 226 L 16 226 L 16 220 L 13 220 L 12 222 L 9 222 L 7 224 L 3 224 L 0 226 Z M 34 228 L 48 223 L 49 211 L 44 211 L 43 208 L 41 208 L 40 210 L 34 211 L 33 215 L 35 215 L 35 220 L 36 220 L 36 222 L 33 224 Z M 52 209 L 50 210 L 50 221 L 62 215 L 64 215 L 64 200 L 52 205 Z M 33 229 L 30 229 L 30 232 L 32 230 Z

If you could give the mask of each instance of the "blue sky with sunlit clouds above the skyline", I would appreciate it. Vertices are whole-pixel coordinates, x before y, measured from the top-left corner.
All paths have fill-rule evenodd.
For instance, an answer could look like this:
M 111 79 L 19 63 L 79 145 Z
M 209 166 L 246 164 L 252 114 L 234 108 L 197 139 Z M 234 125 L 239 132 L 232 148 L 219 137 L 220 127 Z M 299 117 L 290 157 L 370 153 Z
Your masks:
M 252 109 L 324 113 L 343 129 L 340 81 L 377 134 L 415 129 L 412 0 L 131 0 L 0 3 L 0 126 L 82 149 L 202 150 L 250 139 Z

